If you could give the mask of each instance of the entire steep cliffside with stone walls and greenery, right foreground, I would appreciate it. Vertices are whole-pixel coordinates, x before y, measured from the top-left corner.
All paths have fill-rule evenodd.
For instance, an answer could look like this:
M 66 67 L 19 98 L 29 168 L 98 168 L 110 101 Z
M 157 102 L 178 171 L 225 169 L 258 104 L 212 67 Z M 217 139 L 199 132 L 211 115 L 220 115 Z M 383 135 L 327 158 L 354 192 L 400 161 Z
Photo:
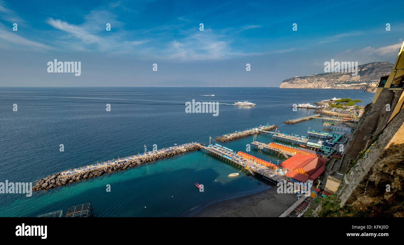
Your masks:
M 384 99 L 366 106 L 343 156 L 343 182 L 314 216 L 404 217 L 404 110 L 386 125 L 391 112 L 382 108 Z

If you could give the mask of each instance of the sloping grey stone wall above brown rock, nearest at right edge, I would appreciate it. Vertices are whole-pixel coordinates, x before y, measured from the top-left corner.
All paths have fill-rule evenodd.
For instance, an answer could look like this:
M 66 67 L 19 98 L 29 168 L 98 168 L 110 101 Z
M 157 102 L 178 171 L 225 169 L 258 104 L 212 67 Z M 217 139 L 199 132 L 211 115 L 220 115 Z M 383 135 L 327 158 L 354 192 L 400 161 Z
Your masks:
M 337 192 L 341 206 L 347 204 L 356 209 L 368 209 L 371 203 L 391 196 L 385 191 L 386 184 L 391 185 L 392 192 L 401 191 L 401 179 L 404 179 L 403 123 L 404 110 L 391 120 L 364 156 L 345 173 L 348 183 L 341 185 Z

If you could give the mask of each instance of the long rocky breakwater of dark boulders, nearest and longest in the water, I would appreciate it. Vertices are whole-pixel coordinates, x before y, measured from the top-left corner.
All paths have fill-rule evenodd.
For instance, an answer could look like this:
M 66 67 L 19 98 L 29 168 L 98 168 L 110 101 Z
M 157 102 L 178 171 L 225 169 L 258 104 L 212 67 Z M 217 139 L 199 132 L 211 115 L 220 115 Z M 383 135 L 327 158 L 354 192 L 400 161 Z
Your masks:
M 112 173 L 116 170 L 130 168 L 130 167 L 142 164 L 142 163 L 155 161 L 155 160 L 158 160 L 161 158 L 168 158 L 170 156 L 175 156 L 175 155 L 182 154 L 185 152 L 194 151 L 194 150 L 197 150 L 200 148 L 201 148 L 200 144 L 194 144 L 194 145 L 189 145 L 189 146 L 185 146 L 185 147 L 179 147 L 177 149 L 174 149 L 171 152 L 162 151 L 162 152 L 158 152 L 156 154 L 150 154 L 149 156 L 143 155 L 143 156 L 135 157 L 135 158 L 132 158 L 132 160 L 129 160 L 129 161 L 127 160 L 124 163 L 112 164 L 109 166 L 105 166 L 103 168 L 97 168 L 97 169 L 88 170 L 85 172 L 78 172 L 77 174 L 63 175 L 63 176 L 61 175 L 61 173 L 52 174 L 44 179 L 40 179 L 32 187 L 32 190 L 33 191 L 48 190 L 50 188 L 55 188 L 55 187 L 59 187 L 62 185 L 66 185 L 66 184 L 72 183 L 74 181 L 79 181 L 82 179 L 88 179 L 88 178 L 92 178 L 95 176 L 100 176 L 105 173 Z

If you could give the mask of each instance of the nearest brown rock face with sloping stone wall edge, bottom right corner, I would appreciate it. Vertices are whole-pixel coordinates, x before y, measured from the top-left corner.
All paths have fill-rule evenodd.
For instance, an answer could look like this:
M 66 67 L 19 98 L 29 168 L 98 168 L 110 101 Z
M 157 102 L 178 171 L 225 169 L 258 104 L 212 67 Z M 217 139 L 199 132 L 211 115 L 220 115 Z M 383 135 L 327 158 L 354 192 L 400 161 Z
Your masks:
M 404 110 L 387 125 L 345 173 L 341 206 L 367 216 L 404 217 Z

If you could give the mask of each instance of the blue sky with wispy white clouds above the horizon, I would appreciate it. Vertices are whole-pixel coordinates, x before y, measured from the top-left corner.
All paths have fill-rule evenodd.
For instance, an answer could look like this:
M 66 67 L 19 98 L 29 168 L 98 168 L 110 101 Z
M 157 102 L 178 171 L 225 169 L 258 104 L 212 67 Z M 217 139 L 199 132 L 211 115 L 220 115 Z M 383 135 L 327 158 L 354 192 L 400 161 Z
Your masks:
M 394 62 L 403 5 L 0 0 L 0 86 L 278 86 L 331 59 Z M 47 73 L 54 59 L 81 61 L 81 75 Z

